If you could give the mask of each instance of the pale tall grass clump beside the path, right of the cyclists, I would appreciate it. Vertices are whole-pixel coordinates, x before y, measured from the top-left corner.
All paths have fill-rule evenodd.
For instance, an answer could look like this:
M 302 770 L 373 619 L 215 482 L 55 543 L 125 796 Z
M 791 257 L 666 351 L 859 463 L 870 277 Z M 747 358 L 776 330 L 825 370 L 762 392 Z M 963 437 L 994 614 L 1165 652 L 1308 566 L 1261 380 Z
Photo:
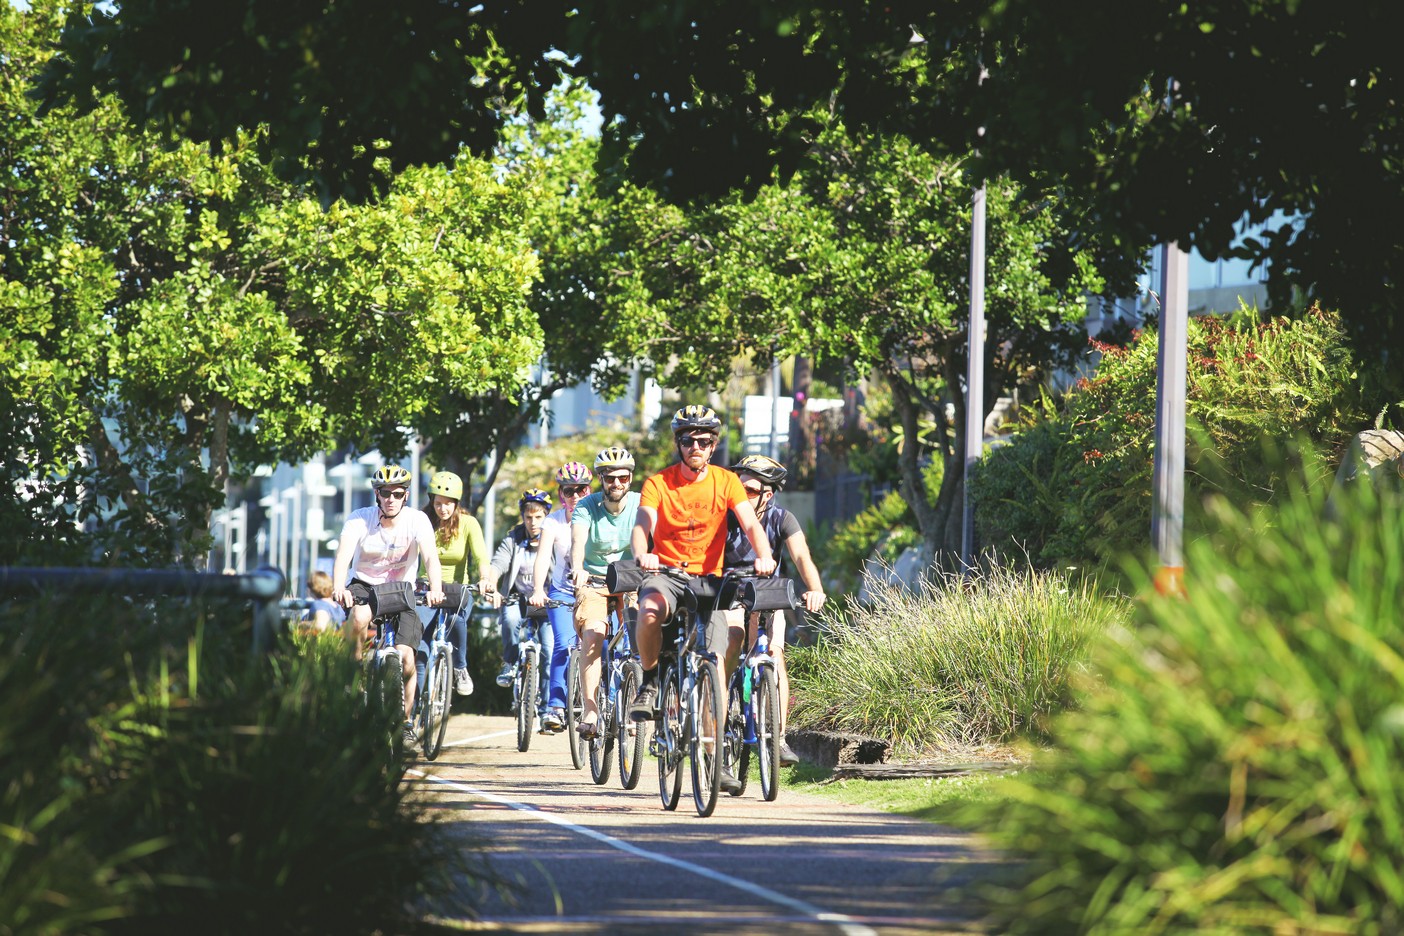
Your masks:
M 1120 601 L 1061 573 L 994 568 L 910 592 L 869 580 L 790 669 L 793 727 L 854 731 L 910 751 L 1040 733 L 1071 697 Z

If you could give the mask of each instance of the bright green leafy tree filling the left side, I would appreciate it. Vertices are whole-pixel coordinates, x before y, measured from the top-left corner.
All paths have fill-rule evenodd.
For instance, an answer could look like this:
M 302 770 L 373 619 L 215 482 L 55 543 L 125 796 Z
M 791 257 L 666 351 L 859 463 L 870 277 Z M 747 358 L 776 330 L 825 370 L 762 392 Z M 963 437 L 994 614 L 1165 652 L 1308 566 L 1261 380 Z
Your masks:
M 60 14 L 0 10 L 7 561 L 197 560 L 230 466 L 403 449 L 458 418 L 444 392 L 539 356 L 519 185 L 465 157 L 324 210 L 257 133 L 212 154 L 112 100 L 39 116 Z

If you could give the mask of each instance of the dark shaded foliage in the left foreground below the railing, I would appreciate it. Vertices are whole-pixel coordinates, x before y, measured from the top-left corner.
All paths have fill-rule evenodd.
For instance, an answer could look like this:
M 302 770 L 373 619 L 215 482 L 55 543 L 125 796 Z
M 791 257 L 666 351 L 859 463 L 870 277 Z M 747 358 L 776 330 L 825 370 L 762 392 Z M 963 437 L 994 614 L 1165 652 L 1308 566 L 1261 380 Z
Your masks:
M 0 639 L 0 932 L 404 932 L 475 873 L 336 639 L 250 662 L 229 609 L 125 601 Z

